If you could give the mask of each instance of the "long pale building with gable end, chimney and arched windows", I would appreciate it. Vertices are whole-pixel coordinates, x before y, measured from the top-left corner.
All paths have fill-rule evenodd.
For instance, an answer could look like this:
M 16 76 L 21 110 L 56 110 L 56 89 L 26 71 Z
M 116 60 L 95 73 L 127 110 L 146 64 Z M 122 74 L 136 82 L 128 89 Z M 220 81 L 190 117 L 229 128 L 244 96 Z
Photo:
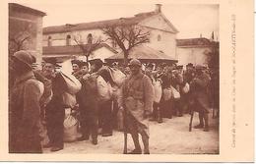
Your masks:
M 51 49 L 50 47 L 71 47 L 77 45 L 75 40 L 80 40 L 80 42 L 83 42 L 84 44 L 92 42 L 92 39 L 106 40 L 106 36 L 101 30 L 102 27 L 118 25 L 134 25 L 144 28 L 150 32 L 150 42 L 144 44 L 147 44 L 147 46 L 155 49 L 156 51 L 160 51 L 165 55 L 176 58 L 176 33 L 178 30 L 162 14 L 160 4 L 156 5 L 155 11 L 139 13 L 134 17 L 129 18 L 76 25 L 66 24 L 63 26 L 44 27 L 43 49 L 45 52 L 48 52 L 47 57 L 53 57 L 54 54 L 49 51 L 49 49 Z M 104 43 L 112 48 L 112 52 L 113 50 L 120 52 L 116 43 L 111 42 L 110 40 L 105 41 Z M 43 55 L 46 54 L 43 52 Z M 72 54 L 70 55 L 72 56 Z M 106 57 L 107 56 L 105 56 L 105 58 Z M 97 56 L 95 55 L 94 58 L 97 58 Z

